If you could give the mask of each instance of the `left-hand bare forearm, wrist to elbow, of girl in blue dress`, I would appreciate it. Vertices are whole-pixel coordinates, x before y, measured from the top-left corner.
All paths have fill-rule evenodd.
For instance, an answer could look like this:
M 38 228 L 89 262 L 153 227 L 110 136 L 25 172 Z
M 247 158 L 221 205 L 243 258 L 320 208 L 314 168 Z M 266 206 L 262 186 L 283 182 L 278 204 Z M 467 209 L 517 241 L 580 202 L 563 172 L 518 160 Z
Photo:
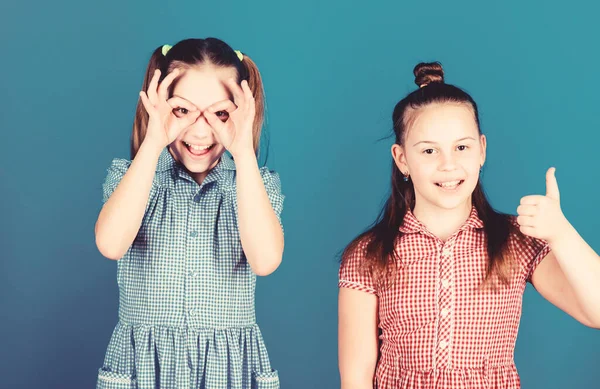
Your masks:
M 96 222 L 96 246 L 117 260 L 135 239 L 146 209 L 161 149 L 142 144 L 131 167 L 102 207 Z

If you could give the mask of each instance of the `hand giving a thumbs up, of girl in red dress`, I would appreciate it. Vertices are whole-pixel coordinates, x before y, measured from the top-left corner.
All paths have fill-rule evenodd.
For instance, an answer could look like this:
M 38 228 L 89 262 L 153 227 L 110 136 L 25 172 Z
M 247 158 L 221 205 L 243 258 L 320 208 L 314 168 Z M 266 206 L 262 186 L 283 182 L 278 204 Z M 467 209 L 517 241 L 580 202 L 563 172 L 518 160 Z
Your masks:
M 523 234 L 547 242 L 554 241 L 569 222 L 560 209 L 560 192 L 554 172 L 546 172 L 546 195 L 525 196 L 517 208 L 517 223 Z

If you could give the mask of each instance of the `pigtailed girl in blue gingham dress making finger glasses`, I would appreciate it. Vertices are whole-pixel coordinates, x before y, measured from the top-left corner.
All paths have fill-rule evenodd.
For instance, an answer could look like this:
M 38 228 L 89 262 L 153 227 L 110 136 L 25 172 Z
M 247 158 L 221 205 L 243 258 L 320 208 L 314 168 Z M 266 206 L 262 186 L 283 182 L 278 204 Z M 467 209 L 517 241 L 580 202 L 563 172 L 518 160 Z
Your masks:
M 263 117 L 256 65 L 223 41 L 152 54 L 132 161 L 109 167 L 96 223 L 119 285 L 98 389 L 279 388 L 254 310 L 284 246 L 279 176 L 257 162 Z

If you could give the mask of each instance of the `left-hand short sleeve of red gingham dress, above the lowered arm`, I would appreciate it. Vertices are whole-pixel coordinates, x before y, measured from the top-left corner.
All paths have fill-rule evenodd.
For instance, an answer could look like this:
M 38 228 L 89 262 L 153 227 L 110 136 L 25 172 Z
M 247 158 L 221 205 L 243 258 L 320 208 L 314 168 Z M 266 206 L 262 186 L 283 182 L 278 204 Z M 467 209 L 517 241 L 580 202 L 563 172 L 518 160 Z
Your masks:
M 377 294 L 371 273 L 364 268 L 366 242 L 359 243 L 346 253 L 340 266 L 338 287 Z

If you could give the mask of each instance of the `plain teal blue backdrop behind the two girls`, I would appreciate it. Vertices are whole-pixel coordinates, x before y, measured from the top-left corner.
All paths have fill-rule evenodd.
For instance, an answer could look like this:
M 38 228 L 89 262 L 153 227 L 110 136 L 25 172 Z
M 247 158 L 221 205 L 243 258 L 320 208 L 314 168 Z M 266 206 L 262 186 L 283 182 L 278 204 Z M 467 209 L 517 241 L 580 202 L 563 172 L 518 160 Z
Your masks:
M 484 183 L 515 212 L 557 166 L 563 210 L 600 249 L 597 2 L 5 1 L 0 5 L 0 388 L 92 388 L 117 321 L 93 227 L 127 157 L 151 51 L 216 36 L 259 64 L 286 251 L 257 312 L 282 387 L 335 388 L 336 254 L 389 186 L 395 103 L 439 60 L 488 136 Z M 577 258 L 574 258 L 577 260 Z M 598 388 L 600 332 L 528 287 L 524 388 Z

